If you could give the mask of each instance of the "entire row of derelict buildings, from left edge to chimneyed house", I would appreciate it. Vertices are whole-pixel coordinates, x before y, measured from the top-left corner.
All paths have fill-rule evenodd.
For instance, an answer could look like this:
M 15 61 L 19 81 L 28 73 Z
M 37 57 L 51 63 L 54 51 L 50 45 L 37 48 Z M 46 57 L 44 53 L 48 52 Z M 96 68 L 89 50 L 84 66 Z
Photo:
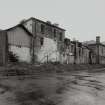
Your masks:
M 36 18 L 0 31 L 0 65 L 7 62 L 105 64 L 105 45 L 100 37 L 84 45 L 65 37 L 65 30 Z

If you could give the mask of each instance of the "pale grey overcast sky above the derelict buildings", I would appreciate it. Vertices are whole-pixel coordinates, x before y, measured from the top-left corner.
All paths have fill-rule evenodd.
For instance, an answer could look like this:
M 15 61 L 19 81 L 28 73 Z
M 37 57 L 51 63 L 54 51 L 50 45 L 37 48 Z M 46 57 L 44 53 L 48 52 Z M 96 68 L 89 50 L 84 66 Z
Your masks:
M 71 39 L 105 41 L 105 0 L 0 0 L 0 29 L 30 17 L 59 23 Z

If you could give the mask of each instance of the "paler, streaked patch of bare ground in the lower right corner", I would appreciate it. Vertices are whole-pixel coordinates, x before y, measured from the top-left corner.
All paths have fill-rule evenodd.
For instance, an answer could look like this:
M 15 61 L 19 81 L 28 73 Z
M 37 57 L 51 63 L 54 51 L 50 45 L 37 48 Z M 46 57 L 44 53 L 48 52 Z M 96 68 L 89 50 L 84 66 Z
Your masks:
M 72 75 L 59 105 L 105 105 L 105 72 L 79 72 Z

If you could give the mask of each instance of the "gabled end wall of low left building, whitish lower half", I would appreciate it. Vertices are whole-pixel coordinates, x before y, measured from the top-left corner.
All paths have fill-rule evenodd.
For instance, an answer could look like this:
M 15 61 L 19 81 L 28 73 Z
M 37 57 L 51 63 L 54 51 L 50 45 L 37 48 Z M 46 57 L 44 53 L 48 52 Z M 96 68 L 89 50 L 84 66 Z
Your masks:
M 32 34 L 21 24 L 7 30 L 8 52 L 17 56 L 20 62 L 31 62 Z M 8 60 L 10 57 L 8 56 Z

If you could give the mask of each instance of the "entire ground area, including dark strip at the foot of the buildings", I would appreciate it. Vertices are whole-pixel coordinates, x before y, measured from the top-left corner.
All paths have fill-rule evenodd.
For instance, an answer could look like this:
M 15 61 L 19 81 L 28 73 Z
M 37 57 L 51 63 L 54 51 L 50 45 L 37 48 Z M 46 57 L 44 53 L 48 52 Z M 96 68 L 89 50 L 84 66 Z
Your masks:
M 105 65 L 0 68 L 0 105 L 105 105 Z

